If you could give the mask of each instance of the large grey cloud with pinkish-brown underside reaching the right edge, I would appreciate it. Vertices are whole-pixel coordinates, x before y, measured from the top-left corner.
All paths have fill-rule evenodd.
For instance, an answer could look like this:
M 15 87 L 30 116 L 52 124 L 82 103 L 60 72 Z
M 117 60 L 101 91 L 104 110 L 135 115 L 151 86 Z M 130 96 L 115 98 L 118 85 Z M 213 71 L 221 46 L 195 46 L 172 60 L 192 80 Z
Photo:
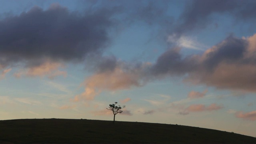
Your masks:
M 172 48 L 159 56 L 151 74 L 157 78 L 185 76 L 184 82 L 220 89 L 256 92 L 256 34 L 248 38 L 228 36 L 202 55 L 182 56 Z

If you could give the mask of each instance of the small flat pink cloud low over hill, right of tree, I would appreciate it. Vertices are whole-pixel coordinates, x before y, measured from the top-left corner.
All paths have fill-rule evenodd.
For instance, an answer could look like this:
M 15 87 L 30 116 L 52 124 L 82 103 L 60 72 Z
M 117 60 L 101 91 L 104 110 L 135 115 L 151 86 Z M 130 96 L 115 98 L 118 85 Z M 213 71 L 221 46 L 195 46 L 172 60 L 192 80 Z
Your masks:
M 179 112 L 178 114 L 181 115 L 187 115 L 190 112 L 204 112 L 204 111 L 213 111 L 213 110 L 219 110 L 221 108 L 224 108 L 222 105 L 217 104 L 210 104 L 209 106 L 206 106 L 204 104 L 192 104 Z

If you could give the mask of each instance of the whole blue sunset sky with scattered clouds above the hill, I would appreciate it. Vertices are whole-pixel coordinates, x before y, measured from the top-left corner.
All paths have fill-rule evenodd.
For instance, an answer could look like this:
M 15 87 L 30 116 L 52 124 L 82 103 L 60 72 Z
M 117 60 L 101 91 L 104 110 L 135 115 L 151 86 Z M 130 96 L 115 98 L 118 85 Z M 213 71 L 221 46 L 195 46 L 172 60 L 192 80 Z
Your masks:
M 0 120 L 180 124 L 255 137 L 255 0 L 0 0 Z

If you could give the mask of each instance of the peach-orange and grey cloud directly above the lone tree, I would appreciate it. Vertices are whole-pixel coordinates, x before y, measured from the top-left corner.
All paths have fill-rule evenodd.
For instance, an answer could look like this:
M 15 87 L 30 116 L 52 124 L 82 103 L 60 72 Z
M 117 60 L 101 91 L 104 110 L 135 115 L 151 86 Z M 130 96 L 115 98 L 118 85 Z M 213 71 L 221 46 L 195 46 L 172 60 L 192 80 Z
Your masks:
M 103 90 L 116 91 L 130 89 L 133 86 L 143 86 L 146 83 L 144 68 L 150 64 L 135 66 L 119 62 L 113 70 L 96 71 L 84 80 L 85 91 L 75 97 L 76 101 L 93 100 Z M 100 69 L 100 68 L 99 68 Z

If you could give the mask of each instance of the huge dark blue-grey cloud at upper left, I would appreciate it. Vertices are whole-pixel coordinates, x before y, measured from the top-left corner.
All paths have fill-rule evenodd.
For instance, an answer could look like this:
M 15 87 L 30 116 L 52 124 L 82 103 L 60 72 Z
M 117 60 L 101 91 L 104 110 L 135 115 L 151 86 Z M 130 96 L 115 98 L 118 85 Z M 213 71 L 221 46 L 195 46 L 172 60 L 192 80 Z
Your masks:
M 47 10 L 33 7 L 18 16 L 0 20 L 0 62 L 49 58 L 80 61 L 92 52 L 100 52 L 110 42 L 114 10 L 99 9 L 80 14 L 53 4 Z

